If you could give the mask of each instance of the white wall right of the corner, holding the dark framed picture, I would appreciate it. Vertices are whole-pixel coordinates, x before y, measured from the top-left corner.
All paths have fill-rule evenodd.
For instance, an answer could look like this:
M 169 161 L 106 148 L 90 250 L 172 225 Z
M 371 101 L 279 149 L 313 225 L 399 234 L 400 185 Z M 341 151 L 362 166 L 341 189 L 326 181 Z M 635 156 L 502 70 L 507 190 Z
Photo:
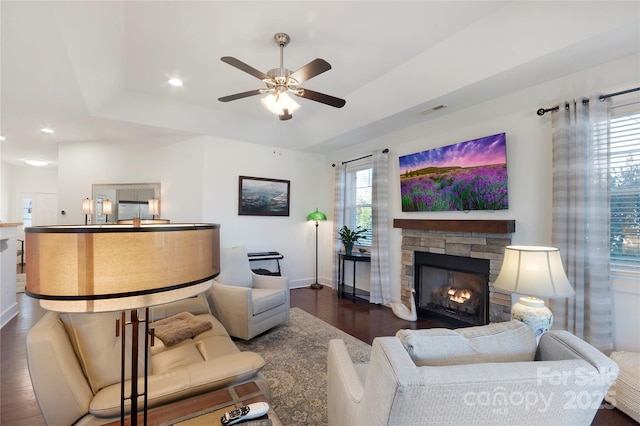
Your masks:
M 249 251 L 278 251 L 285 256 L 282 272 L 289 277 L 292 287 L 315 281 L 315 226 L 306 217 L 316 208 L 329 219 L 332 217 L 333 186 L 326 183 L 333 169 L 325 157 L 233 140 L 203 139 L 206 166 L 202 217 L 204 221 L 222 225 L 221 246 L 245 245 Z M 239 216 L 239 176 L 289 180 L 290 215 Z M 319 239 L 328 238 L 331 229 L 330 221 L 321 223 Z M 331 256 L 331 251 L 320 248 L 320 265 L 326 256 Z M 322 271 L 319 280 L 328 283 L 331 272 L 323 276 Z

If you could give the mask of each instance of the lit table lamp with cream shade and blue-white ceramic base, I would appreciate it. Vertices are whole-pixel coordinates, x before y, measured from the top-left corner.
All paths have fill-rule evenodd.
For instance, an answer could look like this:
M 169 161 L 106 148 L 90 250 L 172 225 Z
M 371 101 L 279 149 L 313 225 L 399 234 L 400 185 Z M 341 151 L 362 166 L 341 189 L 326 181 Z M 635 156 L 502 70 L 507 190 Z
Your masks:
M 493 287 L 526 295 L 513 305 L 511 316 L 531 327 L 538 341 L 553 325 L 553 314 L 537 297 L 555 299 L 575 294 L 564 273 L 560 250 L 555 247 L 506 247 Z

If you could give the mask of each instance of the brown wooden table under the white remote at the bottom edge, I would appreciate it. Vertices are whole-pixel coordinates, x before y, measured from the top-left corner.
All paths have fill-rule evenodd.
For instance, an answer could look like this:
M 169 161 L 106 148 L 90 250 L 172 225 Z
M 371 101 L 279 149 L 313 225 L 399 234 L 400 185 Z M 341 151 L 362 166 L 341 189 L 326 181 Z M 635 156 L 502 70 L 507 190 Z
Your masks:
M 221 426 L 220 417 L 225 412 L 253 402 L 267 402 L 267 400 L 256 382 L 247 382 L 152 408 L 147 413 L 147 423 L 162 426 L 200 426 L 203 424 Z M 280 419 L 271 407 L 269 407 L 269 412 L 260 418 L 270 419 L 273 426 L 282 426 Z M 143 424 L 142 422 L 143 416 L 139 415 L 138 424 Z M 118 425 L 120 422 L 112 424 Z M 128 418 L 125 424 L 130 424 Z M 238 423 L 238 426 L 240 425 L 242 423 Z

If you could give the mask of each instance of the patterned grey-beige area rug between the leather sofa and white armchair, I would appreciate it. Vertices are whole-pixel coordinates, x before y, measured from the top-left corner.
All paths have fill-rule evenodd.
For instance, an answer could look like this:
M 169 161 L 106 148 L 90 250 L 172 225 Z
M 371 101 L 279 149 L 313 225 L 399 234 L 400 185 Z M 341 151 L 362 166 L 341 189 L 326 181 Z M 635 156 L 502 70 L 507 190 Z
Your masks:
M 371 346 L 299 308 L 291 308 L 287 324 L 236 341 L 243 351 L 260 354 L 271 387 L 273 409 L 285 426 L 327 425 L 327 350 L 329 340 L 342 339 L 354 362 L 367 362 Z

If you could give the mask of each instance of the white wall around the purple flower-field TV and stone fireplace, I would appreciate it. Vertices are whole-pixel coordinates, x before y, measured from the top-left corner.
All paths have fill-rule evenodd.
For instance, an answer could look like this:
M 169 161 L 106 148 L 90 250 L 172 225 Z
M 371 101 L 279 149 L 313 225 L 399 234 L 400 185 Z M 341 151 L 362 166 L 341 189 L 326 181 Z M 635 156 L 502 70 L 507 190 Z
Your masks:
M 424 124 L 337 152 L 331 160 L 337 163 L 360 157 L 374 149 L 390 149 L 390 227 L 394 218 L 515 219 L 514 244 L 549 245 L 552 241 L 551 114 L 538 117 L 536 110 L 555 106 L 564 99 L 638 87 L 639 77 L 640 57 L 634 55 L 453 114 L 439 118 L 433 114 L 432 119 Z M 501 132 L 506 132 L 507 136 L 508 210 L 469 213 L 401 211 L 399 156 Z M 392 230 L 390 244 L 392 298 L 397 300 L 400 293 L 401 230 Z M 633 309 L 617 309 L 615 303 L 622 301 L 625 306 L 632 304 Z M 640 351 L 640 286 L 637 283 L 635 286 L 616 286 L 614 310 L 616 325 L 621 331 L 616 332 L 616 347 Z

